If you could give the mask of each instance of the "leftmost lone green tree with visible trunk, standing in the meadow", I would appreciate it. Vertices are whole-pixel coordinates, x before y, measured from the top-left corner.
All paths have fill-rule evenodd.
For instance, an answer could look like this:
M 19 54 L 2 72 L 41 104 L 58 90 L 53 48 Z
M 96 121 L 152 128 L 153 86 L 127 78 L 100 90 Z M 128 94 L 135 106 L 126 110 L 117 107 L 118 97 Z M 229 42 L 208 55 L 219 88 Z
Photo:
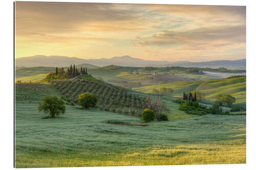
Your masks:
M 55 118 L 60 114 L 65 114 L 66 106 L 61 99 L 57 98 L 57 96 L 47 95 L 42 99 L 42 102 L 39 103 L 38 111 L 43 111 L 45 114 L 49 114 L 50 118 Z

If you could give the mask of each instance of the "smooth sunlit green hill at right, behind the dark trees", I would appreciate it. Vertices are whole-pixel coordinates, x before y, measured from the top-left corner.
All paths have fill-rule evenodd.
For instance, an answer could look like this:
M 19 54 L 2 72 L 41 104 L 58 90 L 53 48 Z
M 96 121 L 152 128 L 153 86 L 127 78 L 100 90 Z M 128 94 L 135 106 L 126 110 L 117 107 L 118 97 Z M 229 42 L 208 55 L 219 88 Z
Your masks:
M 160 84 L 154 86 L 146 86 L 134 88 L 134 90 L 150 93 L 153 88 L 160 89 L 162 87 L 172 88 L 174 95 L 182 95 L 183 92 L 200 90 L 205 93 L 206 99 L 214 99 L 219 93 L 231 94 L 237 99 L 237 103 L 246 102 L 246 77 L 232 79 L 217 79 L 207 81 L 192 82 L 176 82 L 169 84 Z

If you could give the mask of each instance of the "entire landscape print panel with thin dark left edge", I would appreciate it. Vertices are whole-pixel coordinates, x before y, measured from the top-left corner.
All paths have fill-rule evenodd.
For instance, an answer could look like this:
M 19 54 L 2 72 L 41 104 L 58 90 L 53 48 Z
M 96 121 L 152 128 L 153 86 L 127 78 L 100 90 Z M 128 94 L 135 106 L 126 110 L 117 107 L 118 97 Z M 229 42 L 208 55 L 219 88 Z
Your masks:
M 15 167 L 246 163 L 246 7 L 15 2 Z

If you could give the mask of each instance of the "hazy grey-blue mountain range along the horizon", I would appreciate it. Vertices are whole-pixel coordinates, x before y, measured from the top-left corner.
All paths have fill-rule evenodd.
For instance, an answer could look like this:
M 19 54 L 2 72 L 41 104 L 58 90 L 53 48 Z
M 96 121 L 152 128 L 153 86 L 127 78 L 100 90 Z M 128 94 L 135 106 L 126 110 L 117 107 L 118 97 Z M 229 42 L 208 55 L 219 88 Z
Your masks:
M 130 56 L 113 57 L 110 59 L 80 59 L 76 57 L 66 56 L 43 56 L 37 55 L 32 57 L 22 57 L 15 59 L 16 67 L 65 67 L 70 64 L 81 65 L 86 64 L 87 67 L 97 67 L 105 65 L 121 65 L 121 66 L 183 66 L 183 67 L 226 67 L 231 69 L 246 69 L 246 59 L 243 60 L 217 60 L 207 62 L 190 62 L 190 61 L 151 61 L 133 58 Z

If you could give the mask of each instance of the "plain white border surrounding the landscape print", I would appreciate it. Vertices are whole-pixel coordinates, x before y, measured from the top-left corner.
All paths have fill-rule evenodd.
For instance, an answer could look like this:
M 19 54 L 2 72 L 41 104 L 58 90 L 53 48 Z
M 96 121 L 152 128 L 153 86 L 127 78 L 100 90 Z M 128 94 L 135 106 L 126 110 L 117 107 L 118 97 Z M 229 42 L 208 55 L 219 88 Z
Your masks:
M 256 65 L 255 65 L 255 18 L 256 8 L 255 1 L 236 1 L 236 0 L 226 0 L 226 1 L 185 1 L 185 0 L 136 0 L 136 1 L 121 1 L 121 0 L 108 0 L 108 1 L 58 1 L 53 0 L 54 2 L 92 2 L 92 3 L 136 3 L 136 4 L 187 4 L 187 5 L 238 5 L 246 6 L 246 61 L 247 61 L 247 116 L 246 116 L 246 132 L 247 132 L 247 156 L 246 164 L 218 164 L 218 165 L 173 165 L 173 166 L 116 166 L 116 167 L 67 167 L 65 169 L 94 169 L 94 170 L 112 170 L 112 169 L 252 169 L 255 167 L 255 130 L 256 130 L 256 113 L 254 113 L 255 101 L 255 74 L 256 74 Z M 45 1 L 46 2 L 46 1 Z M 1 6 L 1 107 L 0 107 L 0 126 L 1 126 L 1 168 L 2 169 L 13 169 L 13 1 L 2 1 Z M 9 72 L 9 74 L 8 74 Z M 12 73 L 10 73 L 12 72 Z M 30 168 L 37 169 L 37 168 Z M 57 169 L 57 168 L 40 168 L 44 169 Z M 58 168 L 59 169 L 59 168 Z

